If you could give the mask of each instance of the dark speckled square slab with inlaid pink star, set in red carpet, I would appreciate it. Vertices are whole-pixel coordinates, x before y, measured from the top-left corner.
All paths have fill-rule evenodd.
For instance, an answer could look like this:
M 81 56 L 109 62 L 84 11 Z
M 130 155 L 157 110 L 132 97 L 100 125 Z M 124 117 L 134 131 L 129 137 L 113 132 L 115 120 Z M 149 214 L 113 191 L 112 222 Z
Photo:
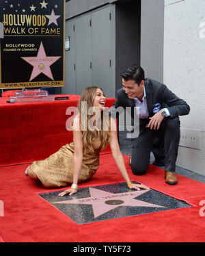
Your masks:
M 72 196 L 61 197 L 59 191 L 39 195 L 78 225 L 191 207 L 156 190 L 128 190 L 126 182 L 80 188 Z

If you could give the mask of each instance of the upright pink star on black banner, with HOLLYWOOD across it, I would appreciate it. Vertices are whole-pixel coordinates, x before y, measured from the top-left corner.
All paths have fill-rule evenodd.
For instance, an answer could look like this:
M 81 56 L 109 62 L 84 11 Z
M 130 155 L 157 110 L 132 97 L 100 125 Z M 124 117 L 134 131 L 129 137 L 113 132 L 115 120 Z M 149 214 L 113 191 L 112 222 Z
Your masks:
M 54 62 L 59 60 L 60 57 L 61 56 L 55 56 L 55 57 L 46 56 L 44 46 L 41 42 L 38 50 L 38 55 L 36 57 L 22 57 L 23 60 L 25 60 L 26 62 L 28 62 L 33 66 L 33 71 L 31 73 L 31 77 L 29 81 L 33 80 L 35 77 L 40 75 L 40 73 L 43 73 L 47 77 L 54 80 L 50 66 Z

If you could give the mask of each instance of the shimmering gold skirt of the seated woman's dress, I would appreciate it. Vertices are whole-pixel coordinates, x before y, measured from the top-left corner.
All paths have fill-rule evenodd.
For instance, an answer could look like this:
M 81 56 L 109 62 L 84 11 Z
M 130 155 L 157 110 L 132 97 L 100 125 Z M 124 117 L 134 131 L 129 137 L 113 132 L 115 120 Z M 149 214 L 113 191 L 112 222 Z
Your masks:
M 94 153 L 83 152 L 79 183 L 90 179 L 99 166 L 100 138 L 94 140 Z M 35 161 L 29 168 L 36 174 L 45 188 L 60 188 L 72 184 L 74 144 L 61 146 L 50 157 Z

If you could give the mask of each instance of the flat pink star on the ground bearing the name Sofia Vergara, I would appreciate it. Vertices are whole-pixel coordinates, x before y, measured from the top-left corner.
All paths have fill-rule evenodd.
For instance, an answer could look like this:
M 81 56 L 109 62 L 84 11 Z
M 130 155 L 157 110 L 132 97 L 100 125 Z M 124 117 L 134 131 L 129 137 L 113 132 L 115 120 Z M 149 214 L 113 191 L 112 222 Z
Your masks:
M 66 201 L 57 201 L 53 203 L 64 204 L 79 204 L 79 205 L 92 205 L 94 218 L 105 214 L 120 206 L 133 206 L 133 207 L 160 207 L 166 208 L 161 205 L 154 205 L 145 201 L 135 199 L 137 196 L 144 194 L 150 190 L 137 190 L 124 193 L 111 193 L 104 190 L 98 190 L 96 188 L 89 188 L 90 197 L 81 199 L 71 199 Z

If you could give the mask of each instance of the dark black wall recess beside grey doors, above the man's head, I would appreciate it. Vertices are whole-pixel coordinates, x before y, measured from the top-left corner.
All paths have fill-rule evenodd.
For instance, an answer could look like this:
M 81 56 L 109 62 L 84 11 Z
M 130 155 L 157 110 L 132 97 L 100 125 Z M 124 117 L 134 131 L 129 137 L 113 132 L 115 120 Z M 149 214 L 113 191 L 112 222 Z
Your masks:
M 140 64 L 141 1 L 116 3 L 115 9 L 115 91 L 122 87 L 126 66 Z

